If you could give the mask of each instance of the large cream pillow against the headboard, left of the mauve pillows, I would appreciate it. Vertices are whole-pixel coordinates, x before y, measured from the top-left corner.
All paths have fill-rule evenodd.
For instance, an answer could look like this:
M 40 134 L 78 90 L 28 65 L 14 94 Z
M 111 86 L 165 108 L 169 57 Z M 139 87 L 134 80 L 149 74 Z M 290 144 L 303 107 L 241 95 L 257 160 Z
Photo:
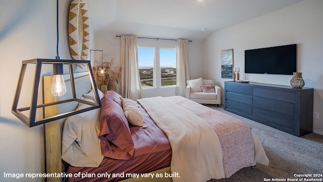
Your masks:
M 81 98 L 88 102 L 90 99 Z M 76 110 L 89 107 L 80 103 Z M 62 159 L 78 167 L 97 167 L 103 160 L 100 140 L 100 108 L 70 116 L 66 119 L 62 136 Z

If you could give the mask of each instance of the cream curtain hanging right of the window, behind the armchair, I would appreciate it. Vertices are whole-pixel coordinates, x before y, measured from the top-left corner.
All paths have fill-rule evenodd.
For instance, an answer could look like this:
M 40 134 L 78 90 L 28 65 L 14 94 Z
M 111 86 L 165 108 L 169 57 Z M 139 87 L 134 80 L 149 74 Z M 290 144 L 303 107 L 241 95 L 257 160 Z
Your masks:
M 176 95 L 185 97 L 186 80 L 189 80 L 187 39 L 177 39 L 176 64 Z

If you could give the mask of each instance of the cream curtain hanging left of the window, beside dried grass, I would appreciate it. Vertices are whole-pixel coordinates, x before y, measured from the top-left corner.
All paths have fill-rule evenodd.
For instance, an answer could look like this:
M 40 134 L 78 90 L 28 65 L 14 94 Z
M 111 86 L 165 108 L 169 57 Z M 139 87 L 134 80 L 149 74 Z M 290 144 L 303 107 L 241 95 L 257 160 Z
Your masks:
M 122 97 L 141 99 L 136 35 L 121 35 L 121 89 Z

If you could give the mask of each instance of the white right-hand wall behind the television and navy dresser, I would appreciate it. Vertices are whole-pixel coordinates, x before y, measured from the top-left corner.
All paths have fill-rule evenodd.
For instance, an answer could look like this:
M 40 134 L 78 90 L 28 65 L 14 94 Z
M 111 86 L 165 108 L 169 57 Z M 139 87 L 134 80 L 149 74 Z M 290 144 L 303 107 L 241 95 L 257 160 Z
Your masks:
M 302 72 L 305 87 L 314 88 L 314 111 L 321 115 L 314 119 L 313 129 L 323 134 L 322 20 L 323 1 L 308 0 L 214 32 L 204 42 L 204 77 L 213 78 L 223 90 L 230 79 L 221 78 L 221 50 L 234 49 L 234 67 L 240 67 L 241 79 L 290 85 L 291 75 L 245 74 L 244 51 L 297 43 L 297 71 Z

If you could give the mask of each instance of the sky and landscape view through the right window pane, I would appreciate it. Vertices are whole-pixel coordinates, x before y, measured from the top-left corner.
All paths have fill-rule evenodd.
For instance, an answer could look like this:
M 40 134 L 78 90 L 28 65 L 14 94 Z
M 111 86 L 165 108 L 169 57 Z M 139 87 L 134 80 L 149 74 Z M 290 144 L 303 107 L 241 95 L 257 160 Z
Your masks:
M 161 86 L 176 85 L 176 49 L 160 49 Z

